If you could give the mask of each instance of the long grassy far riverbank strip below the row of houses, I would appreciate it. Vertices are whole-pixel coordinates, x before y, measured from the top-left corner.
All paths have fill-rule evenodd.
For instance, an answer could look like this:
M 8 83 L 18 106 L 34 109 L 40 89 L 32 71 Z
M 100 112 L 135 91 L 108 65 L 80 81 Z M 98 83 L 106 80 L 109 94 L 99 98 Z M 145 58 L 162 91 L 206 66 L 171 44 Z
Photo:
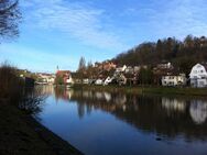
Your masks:
M 178 88 L 178 87 L 153 87 L 153 86 L 95 86 L 95 85 L 75 85 L 74 89 L 96 90 L 96 91 L 108 91 L 108 92 L 126 92 L 126 93 L 155 93 L 165 96 L 198 96 L 206 97 L 207 88 Z

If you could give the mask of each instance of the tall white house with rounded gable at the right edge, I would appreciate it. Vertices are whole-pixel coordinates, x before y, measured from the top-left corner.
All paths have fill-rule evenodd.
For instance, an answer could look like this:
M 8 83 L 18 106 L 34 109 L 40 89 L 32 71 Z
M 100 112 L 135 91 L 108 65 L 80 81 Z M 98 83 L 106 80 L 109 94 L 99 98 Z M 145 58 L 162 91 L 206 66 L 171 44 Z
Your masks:
M 204 88 L 207 87 L 207 71 L 206 68 L 196 64 L 189 74 L 190 85 L 192 87 Z

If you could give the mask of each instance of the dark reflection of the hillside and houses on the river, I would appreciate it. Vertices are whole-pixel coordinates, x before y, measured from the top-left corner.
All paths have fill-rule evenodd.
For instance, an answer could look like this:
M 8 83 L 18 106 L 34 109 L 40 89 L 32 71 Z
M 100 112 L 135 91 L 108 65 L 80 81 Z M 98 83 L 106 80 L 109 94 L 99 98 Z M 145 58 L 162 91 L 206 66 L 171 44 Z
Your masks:
M 79 119 L 92 111 L 108 112 L 143 132 L 156 132 L 171 139 L 207 139 L 207 101 L 121 92 L 45 89 L 68 103 L 76 103 Z

